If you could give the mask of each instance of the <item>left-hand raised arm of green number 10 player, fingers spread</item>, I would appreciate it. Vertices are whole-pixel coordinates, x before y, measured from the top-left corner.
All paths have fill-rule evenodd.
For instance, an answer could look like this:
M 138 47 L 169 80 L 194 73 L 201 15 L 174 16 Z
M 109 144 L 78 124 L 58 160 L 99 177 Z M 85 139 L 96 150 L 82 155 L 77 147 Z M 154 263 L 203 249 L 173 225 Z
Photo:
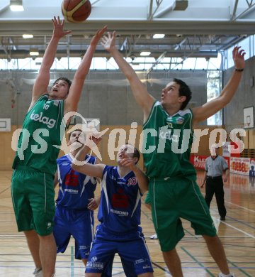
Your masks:
M 72 31 L 64 31 L 64 20 L 60 20 L 60 17 L 57 18 L 54 16 L 52 19 L 53 23 L 53 34 L 50 40 L 50 43 L 47 45 L 45 53 L 42 58 L 42 65 L 40 66 L 40 70 L 38 73 L 38 77 L 35 80 L 35 84 L 33 86 L 33 94 L 32 94 L 32 104 L 37 101 L 37 99 L 47 92 L 47 87 L 50 82 L 50 67 L 55 59 L 55 55 L 57 53 L 57 45 L 60 41 L 60 38 L 68 35 Z

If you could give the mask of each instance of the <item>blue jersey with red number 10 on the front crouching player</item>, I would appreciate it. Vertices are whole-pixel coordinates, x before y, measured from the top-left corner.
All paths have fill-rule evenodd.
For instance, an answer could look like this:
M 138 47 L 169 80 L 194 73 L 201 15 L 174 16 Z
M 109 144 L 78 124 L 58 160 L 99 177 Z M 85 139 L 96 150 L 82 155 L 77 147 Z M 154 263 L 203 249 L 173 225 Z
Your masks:
M 98 220 L 110 232 L 125 233 L 138 229 L 140 217 L 141 193 L 135 174 L 130 171 L 121 178 L 117 166 L 106 165 Z

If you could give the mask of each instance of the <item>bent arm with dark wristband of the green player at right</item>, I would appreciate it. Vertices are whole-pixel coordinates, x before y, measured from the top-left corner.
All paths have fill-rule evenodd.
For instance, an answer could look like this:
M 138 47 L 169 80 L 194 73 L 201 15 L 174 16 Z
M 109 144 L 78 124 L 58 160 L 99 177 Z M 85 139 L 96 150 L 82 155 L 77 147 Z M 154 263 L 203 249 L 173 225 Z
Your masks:
M 240 50 L 240 47 L 235 47 L 232 55 L 235 69 L 229 81 L 227 82 L 227 85 L 225 85 L 217 98 L 203 104 L 201 107 L 193 109 L 193 123 L 208 119 L 210 116 L 225 107 L 231 101 L 232 97 L 234 97 L 234 93 L 237 91 L 237 87 L 242 78 L 242 71 L 240 70 L 244 69 L 245 52 L 243 49 Z

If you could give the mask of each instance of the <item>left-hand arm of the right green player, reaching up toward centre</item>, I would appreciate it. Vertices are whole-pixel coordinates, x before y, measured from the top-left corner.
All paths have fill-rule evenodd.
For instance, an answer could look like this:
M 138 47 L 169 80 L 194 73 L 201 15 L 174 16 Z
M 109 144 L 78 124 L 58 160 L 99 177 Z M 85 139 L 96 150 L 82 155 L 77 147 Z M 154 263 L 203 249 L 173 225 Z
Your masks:
M 152 97 L 152 95 L 149 94 L 149 92 L 147 92 L 145 85 L 143 85 L 140 79 L 137 77 L 135 70 L 132 69 L 129 63 L 124 60 L 123 55 L 121 55 L 117 50 L 115 46 L 115 38 L 115 31 L 113 33 L 108 32 L 108 36 L 103 36 L 101 44 L 103 45 L 103 48 L 111 53 L 115 62 L 120 67 L 120 70 L 130 82 L 132 93 L 134 94 L 137 104 L 139 104 L 139 106 L 142 108 L 146 121 L 155 99 Z

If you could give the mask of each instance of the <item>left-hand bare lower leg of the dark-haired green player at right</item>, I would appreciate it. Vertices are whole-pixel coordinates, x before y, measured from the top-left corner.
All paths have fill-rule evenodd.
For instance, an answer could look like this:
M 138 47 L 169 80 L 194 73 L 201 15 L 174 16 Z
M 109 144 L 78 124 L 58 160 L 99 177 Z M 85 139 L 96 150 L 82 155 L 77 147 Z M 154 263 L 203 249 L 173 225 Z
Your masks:
M 176 249 L 172 249 L 167 252 L 162 252 L 166 266 L 173 277 L 183 277 L 181 270 L 181 260 L 176 252 Z

